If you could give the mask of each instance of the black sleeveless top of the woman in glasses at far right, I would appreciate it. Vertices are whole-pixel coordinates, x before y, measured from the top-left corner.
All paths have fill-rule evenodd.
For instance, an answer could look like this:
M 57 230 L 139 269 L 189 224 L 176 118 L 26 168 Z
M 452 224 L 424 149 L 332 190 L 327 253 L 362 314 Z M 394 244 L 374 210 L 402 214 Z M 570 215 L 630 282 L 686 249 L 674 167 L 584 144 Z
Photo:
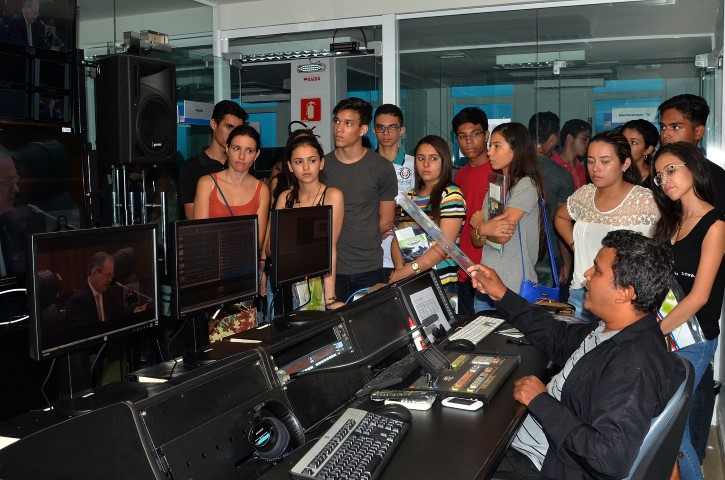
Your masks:
M 685 238 L 672 245 L 672 253 L 675 257 L 675 277 L 685 295 L 689 295 L 695 284 L 695 275 L 697 267 L 700 265 L 702 242 L 705 240 L 705 235 L 718 220 L 725 220 L 725 218 L 717 210 L 710 210 L 702 216 Z M 725 290 L 725 263 L 721 262 L 710 291 L 710 298 L 696 313 L 702 333 L 708 340 L 712 340 L 720 334 L 719 321 L 723 290 Z

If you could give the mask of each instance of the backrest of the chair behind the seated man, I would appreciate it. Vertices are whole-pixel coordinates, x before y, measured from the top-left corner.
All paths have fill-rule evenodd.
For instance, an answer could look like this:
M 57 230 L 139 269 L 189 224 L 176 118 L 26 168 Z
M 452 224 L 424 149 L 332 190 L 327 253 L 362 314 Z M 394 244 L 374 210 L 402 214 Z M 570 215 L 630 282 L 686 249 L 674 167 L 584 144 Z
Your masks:
M 685 380 L 662 413 L 652 419 L 649 432 L 644 437 L 639 455 L 626 480 L 667 480 L 672 474 L 690 412 L 690 398 L 695 382 L 692 364 L 679 358 L 685 366 Z

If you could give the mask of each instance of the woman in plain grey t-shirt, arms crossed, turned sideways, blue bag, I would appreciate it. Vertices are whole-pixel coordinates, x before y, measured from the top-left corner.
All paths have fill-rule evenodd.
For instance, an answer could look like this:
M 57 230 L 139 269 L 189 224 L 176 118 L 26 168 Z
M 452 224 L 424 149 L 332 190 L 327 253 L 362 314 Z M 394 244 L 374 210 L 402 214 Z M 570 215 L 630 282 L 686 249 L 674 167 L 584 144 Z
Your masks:
M 529 130 L 520 123 L 503 123 L 494 128 L 488 159 L 494 171 L 508 178 L 506 209 L 500 215 L 490 215 L 489 186 L 483 202 L 486 208 L 471 217 L 471 242 L 483 247 L 481 263 L 496 270 L 503 283 L 518 292 L 524 280 L 522 262 L 526 280 L 536 283 L 536 261 L 546 248 L 539 200 L 544 196 L 544 181 Z M 477 292 L 474 309 L 492 308 L 488 295 Z

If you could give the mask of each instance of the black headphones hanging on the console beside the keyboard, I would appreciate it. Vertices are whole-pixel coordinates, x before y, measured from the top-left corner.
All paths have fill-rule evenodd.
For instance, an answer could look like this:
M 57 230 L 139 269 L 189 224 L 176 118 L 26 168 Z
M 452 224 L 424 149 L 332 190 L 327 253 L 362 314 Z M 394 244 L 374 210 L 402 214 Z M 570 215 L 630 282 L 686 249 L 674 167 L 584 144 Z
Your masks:
M 273 462 L 305 443 L 305 434 L 297 417 L 281 403 L 270 400 L 254 407 L 252 428 L 247 440 L 257 456 Z

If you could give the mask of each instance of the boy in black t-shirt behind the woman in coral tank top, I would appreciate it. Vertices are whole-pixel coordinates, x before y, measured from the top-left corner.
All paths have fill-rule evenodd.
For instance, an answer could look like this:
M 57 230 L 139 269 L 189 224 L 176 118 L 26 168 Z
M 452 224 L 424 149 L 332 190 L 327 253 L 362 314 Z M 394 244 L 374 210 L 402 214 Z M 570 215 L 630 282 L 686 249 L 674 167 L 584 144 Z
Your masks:
M 242 125 L 249 115 L 237 103 L 222 100 L 214 105 L 209 126 L 212 141 L 199 155 L 181 164 L 179 170 L 179 200 L 184 206 L 184 217 L 193 218 L 196 183 L 204 175 L 227 168 L 227 137 L 234 127 Z

